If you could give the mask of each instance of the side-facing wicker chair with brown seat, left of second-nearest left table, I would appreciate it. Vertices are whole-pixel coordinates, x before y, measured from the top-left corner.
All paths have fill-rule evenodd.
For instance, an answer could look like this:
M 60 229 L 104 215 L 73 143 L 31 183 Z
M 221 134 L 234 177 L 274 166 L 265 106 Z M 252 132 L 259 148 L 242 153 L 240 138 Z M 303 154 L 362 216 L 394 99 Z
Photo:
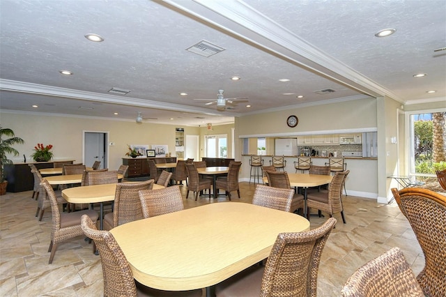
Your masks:
M 56 195 L 54 195 L 54 190 L 48 181 L 43 178 L 42 183 L 43 189 L 47 192 L 49 201 L 51 202 L 52 211 L 52 229 L 51 229 L 51 242 L 49 243 L 48 252 L 49 255 L 48 264 L 52 264 L 54 259 L 54 254 L 56 254 L 57 246 L 63 241 L 75 238 L 84 234 L 81 228 L 81 217 L 82 215 L 87 215 L 93 222 L 97 222 L 99 215 L 96 211 L 85 210 L 85 211 L 75 211 L 72 213 L 60 213 L 59 204 L 57 203 Z M 93 246 L 93 251 L 95 247 Z

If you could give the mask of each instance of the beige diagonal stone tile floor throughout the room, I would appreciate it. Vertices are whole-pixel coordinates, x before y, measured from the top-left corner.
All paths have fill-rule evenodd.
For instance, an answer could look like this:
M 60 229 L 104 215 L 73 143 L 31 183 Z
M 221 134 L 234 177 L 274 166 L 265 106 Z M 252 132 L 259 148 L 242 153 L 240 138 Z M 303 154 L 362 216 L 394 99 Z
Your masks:
M 186 187 L 182 188 L 185 197 Z M 242 198 L 234 192 L 233 201 L 251 203 L 253 183 L 240 183 L 240 190 Z M 100 257 L 82 236 L 59 245 L 48 264 L 51 211 L 47 209 L 38 222 L 37 201 L 31 195 L 32 191 L 0 196 L 0 296 L 102 296 Z M 224 197 L 183 200 L 185 208 L 227 201 Z M 334 215 L 338 222 L 322 254 L 318 296 L 339 296 L 353 271 L 394 246 L 403 250 L 415 274 L 422 270 L 422 250 L 397 204 L 351 196 L 343 201 L 347 224 Z M 312 228 L 324 220 L 312 217 Z

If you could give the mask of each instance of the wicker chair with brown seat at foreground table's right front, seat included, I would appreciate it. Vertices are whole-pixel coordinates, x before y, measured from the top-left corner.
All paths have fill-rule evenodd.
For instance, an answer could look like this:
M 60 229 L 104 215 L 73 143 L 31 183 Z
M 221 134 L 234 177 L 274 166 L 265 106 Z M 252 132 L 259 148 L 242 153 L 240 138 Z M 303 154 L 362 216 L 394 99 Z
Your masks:
M 336 219 L 311 231 L 281 233 L 266 266 L 252 266 L 215 286 L 219 297 L 316 296 L 321 254 Z

